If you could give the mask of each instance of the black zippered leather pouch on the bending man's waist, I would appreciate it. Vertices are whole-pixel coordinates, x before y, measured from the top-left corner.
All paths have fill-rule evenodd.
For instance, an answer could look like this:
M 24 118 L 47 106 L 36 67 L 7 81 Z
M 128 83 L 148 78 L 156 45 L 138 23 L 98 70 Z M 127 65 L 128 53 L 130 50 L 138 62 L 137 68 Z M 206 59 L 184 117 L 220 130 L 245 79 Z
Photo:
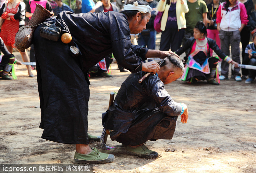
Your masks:
M 57 42 L 60 38 L 61 28 L 57 26 L 54 22 L 47 22 L 40 28 L 40 36 Z

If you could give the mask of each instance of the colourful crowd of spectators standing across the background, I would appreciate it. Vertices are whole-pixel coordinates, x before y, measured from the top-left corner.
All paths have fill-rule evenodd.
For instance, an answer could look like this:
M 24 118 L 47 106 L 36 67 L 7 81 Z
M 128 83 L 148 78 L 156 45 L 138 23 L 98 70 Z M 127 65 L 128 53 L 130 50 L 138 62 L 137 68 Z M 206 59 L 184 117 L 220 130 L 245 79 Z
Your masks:
M 220 0 L 213 0 L 208 5 L 206 5 L 203 0 L 146 1 L 152 8 L 151 19 L 148 22 L 146 29 L 138 35 L 132 35 L 133 39 L 137 38 L 138 45 L 146 46 L 148 49 L 156 48 L 157 32 L 154 29 L 154 19 L 158 12 L 163 12 L 161 20 L 160 51 L 171 50 L 175 52 L 180 49 L 181 45 L 186 45 L 186 42 L 189 42 L 189 39 L 195 38 L 194 28 L 196 23 L 198 21 L 202 21 L 204 26 L 207 28 L 207 38 L 214 40 L 217 46 L 227 56 L 229 56 L 231 47 L 231 59 L 240 64 L 239 45 L 241 42 L 242 64 L 253 64 L 254 54 L 252 52 L 254 50 L 254 44 L 252 43 L 253 45 L 250 44 L 251 47 L 248 47 L 251 38 L 251 31 L 246 26 L 248 23 L 248 17 L 254 8 L 252 0 L 226 0 L 224 2 L 222 1 L 222 3 Z M 5 2 L 8 3 L 7 6 L 5 5 Z M 0 36 L 8 51 L 12 54 L 12 49 L 15 48 L 15 33 L 25 24 L 25 16 L 28 19 L 31 18 L 35 11 L 36 3 L 41 4 L 44 8 L 53 12 L 54 15 L 58 15 L 58 13 L 62 11 L 70 11 L 74 13 L 108 11 L 120 12 L 123 10 L 126 2 L 127 1 L 121 0 L 114 0 L 113 2 L 110 2 L 110 0 L 101 0 L 95 3 L 93 0 L 76 0 L 76 4 L 73 4 L 74 10 L 72 10 L 70 4 L 68 5 L 62 0 L 28 0 L 27 4 L 22 0 L 2 0 L 0 2 L 0 5 L 2 6 L 0 14 L 5 20 Z M 210 56 L 212 56 L 212 49 L 209 48 L 208 51 L 209 52 L 206 51 L 205 53 L 209 53 Z M 186 49 L 185 52 L 186 56 L 184 59 L 187 61 L 188 56 L 191 55 L 192 52 L 190 49 Z M 30 47 L 30 58 L 28 58 L 27 52 L 20 52 L 20 54 L 24 62 L 35 62 L 33 44 Z M 107 63 L 106 66 L 109 67 L 109 64 Z M 99 64 L 96 65 L 96 67 L 100 68 Z M 32 74 L 31 69 L 36 69 L 36 67 L 30 67 L 28 65 L 27 68 L 29 76 L 33 77 L 34 75 Z M 121 72 L 127 72 L 119 65 L 118 68 Z M 228 68 L 229 64 L 226 61 L 221 61 L 221 75 L 216 75 L 214 77 L 220 80 L 228 79 Z M 100 76 L 111 77 L 111 75 L 105 74 L 107 70 L 104 71 L 104 75 Z M 242 75 L 240 74 L 240 68 L 234 68 L 231 72 L 231 78 L 234 78 L 238 82 L 242 81 L 242 79 L 246 79 L 246 81 L 250 79 L 249 81 L 253 82 L 252 78 L 254 79 L 249 70 L 244 68 L 242 68 Z M 247 81 L 246 83 L 249 82 Z

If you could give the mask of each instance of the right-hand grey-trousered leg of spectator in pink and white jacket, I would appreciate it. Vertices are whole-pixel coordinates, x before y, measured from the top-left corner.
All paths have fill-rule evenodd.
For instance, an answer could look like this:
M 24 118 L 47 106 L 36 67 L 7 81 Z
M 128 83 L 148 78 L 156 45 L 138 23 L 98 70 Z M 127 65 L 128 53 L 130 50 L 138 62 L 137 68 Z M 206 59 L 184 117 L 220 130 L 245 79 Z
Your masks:
M 241 64 L 240 61 L 240 32 L 239 30 L 233 31 L 232 35 L 230 36 L 230 46 L 231 46 L 231 54 L 233 61 L 237 62 L 238 64 Z M 239 78 L 241 76 L 240 74 L 240 67 L 234 68 L 234 77 L 236 81 L 241 81 Z M 238 77 L 237 77 L 238 76 Z

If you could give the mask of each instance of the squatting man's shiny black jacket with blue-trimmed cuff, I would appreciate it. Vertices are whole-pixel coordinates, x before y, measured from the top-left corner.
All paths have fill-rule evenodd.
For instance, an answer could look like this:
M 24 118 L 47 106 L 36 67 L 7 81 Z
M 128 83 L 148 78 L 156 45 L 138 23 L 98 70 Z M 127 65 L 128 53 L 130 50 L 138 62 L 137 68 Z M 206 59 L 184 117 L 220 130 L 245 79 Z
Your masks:
M 109 112 L 102 114 L 105 129 L 126 133 L 134 119 L 156 108 L 166 116 L 181 113 L 182 107 L 172 99 L 156 75 L 149 75 L 142 83 L 138 82 L 145 74 L 143 71 L 131 74 L 122 83 Z

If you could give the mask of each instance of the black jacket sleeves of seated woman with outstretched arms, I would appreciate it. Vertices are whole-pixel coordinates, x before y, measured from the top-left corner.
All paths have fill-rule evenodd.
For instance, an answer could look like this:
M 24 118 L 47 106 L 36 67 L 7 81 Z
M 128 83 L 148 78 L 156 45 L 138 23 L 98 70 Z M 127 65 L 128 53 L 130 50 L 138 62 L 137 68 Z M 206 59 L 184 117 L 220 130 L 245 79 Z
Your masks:
M 208 45 L 209 45 L 209 50 L 208 50 L 208 54 L 207 54 L 207 58 L 211 57 L 210 55 L 210 48 L 221 58 L 224 59 L 226 58 L 226 54 L 220 50 L 219 46 L 216 44 L 216 42 L 214 40 L 212 40 L 211 38 L 208 38 Z M 195 38 L 190 38 L 189 40 L 186 41 L 186 43 L 177 51 L 175 51 L 175 53 L 177 55 L 181 55 L 183 52 L 185 52 L 186 50 L 189 50 L 189 54 L 190 51 L 192 49 L 193 44 L 195 43 L 196 39 Z M 188 58 L 188 57 L 186 57 Z

